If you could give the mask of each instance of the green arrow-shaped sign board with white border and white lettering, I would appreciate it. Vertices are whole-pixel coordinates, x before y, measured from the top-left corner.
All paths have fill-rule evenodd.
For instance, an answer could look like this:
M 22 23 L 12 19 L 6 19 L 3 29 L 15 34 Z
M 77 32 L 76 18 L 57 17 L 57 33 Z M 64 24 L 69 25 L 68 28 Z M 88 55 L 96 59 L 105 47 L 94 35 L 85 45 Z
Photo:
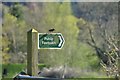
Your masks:
M 64 42 L 61 33 L 38 33 L 38 49 L 61 49 Z

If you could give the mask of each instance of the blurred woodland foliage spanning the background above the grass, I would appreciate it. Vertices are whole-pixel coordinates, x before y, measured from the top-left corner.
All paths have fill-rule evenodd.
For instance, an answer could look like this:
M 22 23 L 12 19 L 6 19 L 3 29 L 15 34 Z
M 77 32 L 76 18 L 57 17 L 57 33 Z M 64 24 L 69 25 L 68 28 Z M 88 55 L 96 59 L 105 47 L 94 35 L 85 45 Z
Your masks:
M 3 62 L 26 62 L 26 33 L 29 29 L 48 33 L 50 28 L 54 28 L 55 33 L 63 34 L 65 44 L 60 50 L 40 49 L 39 63 L 99 70 L 101 58 L 97 57 L 95 47 L 88 46 L 92 42 L 90 30 L 97 48 L 106 52 L 113 50 L 113 46 L 106 46 L 101 35 L 107 30 L 108 36 L 115 34 L 116 37 L 116 7 L 116 3 L 14 3 L 10 7 L 3 4 Z

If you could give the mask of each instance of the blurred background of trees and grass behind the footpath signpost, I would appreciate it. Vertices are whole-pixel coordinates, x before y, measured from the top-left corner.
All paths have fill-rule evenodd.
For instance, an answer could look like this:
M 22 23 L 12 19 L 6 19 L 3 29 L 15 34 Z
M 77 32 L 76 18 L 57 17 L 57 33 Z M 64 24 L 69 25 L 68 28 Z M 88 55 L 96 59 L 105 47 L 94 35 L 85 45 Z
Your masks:
M 54 28 L 65 39 L 60 50 L 39 50 L 40 70 L 64 68 L 73 78 L 117 74 L 106 72 L 106 68 L 113 69 L 111 64 L 117 66 L 120 56 L 117 2 L 3 2 L 2 19 L 3 77 L 26 71 L 27 31 L 31 28 L 40 33 Z

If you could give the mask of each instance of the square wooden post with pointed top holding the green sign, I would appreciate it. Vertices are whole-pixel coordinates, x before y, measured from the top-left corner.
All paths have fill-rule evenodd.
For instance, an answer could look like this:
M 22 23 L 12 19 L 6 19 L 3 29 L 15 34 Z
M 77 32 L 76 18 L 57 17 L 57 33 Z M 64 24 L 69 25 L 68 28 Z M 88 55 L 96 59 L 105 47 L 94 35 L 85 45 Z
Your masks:
M 27 74 L 37 76 L 38 73 L 38 32 L 31 29 L 27 32 Z

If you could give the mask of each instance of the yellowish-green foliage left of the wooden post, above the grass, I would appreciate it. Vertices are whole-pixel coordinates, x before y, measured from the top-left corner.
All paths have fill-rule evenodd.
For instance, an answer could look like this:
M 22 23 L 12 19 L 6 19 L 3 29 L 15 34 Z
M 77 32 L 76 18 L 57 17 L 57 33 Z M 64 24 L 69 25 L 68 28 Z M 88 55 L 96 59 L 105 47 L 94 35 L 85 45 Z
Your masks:
M 4 7 L 4 20 L 2 29 L 2 52 L 3 62 L 5 59 L 10 60 L 7 56 L 19 51 L 25 52 L 26 36 L 23 33 L 26 32 L 26 24 L 23 20 L 18 20 L 15 16 L 11 15 L 7 7 Z M 19 36 L 18 36 L 19 35 Z M 18 44 L 21 43 L 21 44 Z M 7 54 L 6 54 L 7 53 Z M 8 54 L 11 53 L 11 54 Z M 12 58 L 11 58 L 12 59 Z M 17 58 L 16 58 L 17 59 Z

